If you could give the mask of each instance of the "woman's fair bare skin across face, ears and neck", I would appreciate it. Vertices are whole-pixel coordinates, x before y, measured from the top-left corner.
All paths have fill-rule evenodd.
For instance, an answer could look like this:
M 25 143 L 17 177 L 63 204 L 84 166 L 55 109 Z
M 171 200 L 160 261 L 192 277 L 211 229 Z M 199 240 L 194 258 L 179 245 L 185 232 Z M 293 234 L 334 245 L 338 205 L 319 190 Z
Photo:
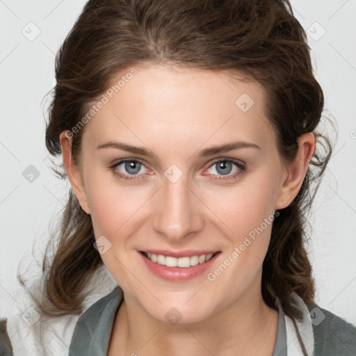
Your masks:
M 142 63 L 136 69 L 138 74 L 86 124 L 79 166 L 73 163 L 70 138 L 65 131 L 60 135 L 73 191 L 92 218 L 96 238 L 110 241 L 101 256 L 124 291 L 108 355 L 270 356 L 278 314 L 262 299 L 261 272 L 272 224 L 213 282 L 207 273 L 184 282 L 163 280 L 145 268 L 137 251 L 220 251 L 208 272 L 213 271 L 249 232 L 296 197 L 314 152 L 314 134 L 300 136 L 296 159 L 285 163 L 259 83 L 178 65 Z M 235 104 L 243 93 L 254 100 L 246 112 Z M 97 149 L 109 140 L 154 155 Z M 233 140 L 260 148 L 199 156 L 202 149 Z M 110 168 L 125 158 L 143 163 L 138 179 L 114 174 L 135 176 L 124 164 Z M 232 163 L 223 175 L 216 159 L 243 161 L 246 169 Z M 175 183 L 164 175 L 172 164 L 183 174 Z M 181 314 L 175 325 L 165 318 L 172 307 Z

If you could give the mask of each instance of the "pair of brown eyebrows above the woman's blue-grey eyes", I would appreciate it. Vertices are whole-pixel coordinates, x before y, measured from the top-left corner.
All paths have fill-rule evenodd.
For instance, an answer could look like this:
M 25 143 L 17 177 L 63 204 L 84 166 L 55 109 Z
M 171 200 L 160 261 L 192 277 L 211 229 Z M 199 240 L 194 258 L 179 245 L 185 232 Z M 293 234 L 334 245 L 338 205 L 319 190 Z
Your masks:
M 213 154 L 220 154 L 224 152 L 233 151 L 234 149 L 240 149 L 246 147 L 261 149 L 261 147 L 259 147 L 254 143 L 248 143 L 244 141 L 234 141 L 232 143 L 226 143 L 225 145 L 213 146 L 213 147 L 202 149 L 202 151 L 200 151 L 200 156 L 206 157 L 206 156 L 211 156 Z M 133 154 L 141 154 L 142 156 L 155 156 L 153 152 L 145 149 L 145 147 L 131 146 L 128 145 L 127 143 L 120 143 L 113 140 L 108 141 L 106 143 L 102 143 L 101 145 L 97 146 L 97 149 L 102 149 L 102 148 L 122 149 L 123 151 L 131 152 Z

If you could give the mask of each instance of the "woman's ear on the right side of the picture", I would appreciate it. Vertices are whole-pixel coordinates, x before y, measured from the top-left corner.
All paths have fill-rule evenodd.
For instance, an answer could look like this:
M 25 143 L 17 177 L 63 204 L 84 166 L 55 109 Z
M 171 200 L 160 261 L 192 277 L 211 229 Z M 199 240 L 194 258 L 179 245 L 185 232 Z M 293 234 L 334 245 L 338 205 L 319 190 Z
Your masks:
M 275 202 L 275 209 L 288 207 L 300 191 L 314 149 L 314 133 L 307 132 L 298 137 L 298 154 L 293 161 L 284 165 L 280 192 Z

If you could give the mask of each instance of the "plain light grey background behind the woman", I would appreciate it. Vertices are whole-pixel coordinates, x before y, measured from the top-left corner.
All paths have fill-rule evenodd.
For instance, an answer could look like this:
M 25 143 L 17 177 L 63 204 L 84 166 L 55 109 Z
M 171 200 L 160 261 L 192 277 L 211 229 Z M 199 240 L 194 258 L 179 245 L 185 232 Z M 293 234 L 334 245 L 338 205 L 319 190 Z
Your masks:
M 44 146 L 47 106 L 41 101 L 54 86 L 56 51 L 84 3 L 0 0 L 1 300 L 19 288 L 16 274 L 22 257 L 33 273 L 39 272 L 31 253 L 40 260 L 48 227 L 60 216 L 67 197 L 69 184 L 49 169 Z M 339 127 L 310 219 L 316 302 L 356 325 L 356 1 L 291 3 L 308 32 L 325 108 Z M 32 182 L 24 177 L 29 165 L 39 174 Z

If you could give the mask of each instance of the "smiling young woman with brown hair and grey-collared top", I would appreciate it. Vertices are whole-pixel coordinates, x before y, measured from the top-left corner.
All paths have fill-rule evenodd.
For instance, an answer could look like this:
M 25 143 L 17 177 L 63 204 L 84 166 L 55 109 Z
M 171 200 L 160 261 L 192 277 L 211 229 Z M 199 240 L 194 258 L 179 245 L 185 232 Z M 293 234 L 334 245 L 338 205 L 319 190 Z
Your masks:
M 46 143 L 72 189 L 38 305 L 81 314 L 71 356 L 355 355 L 314 302 L 331 144 L 289 1 L 88 1 L 56 81 Z M 83 312 L 103 265 L 118 286 Z

